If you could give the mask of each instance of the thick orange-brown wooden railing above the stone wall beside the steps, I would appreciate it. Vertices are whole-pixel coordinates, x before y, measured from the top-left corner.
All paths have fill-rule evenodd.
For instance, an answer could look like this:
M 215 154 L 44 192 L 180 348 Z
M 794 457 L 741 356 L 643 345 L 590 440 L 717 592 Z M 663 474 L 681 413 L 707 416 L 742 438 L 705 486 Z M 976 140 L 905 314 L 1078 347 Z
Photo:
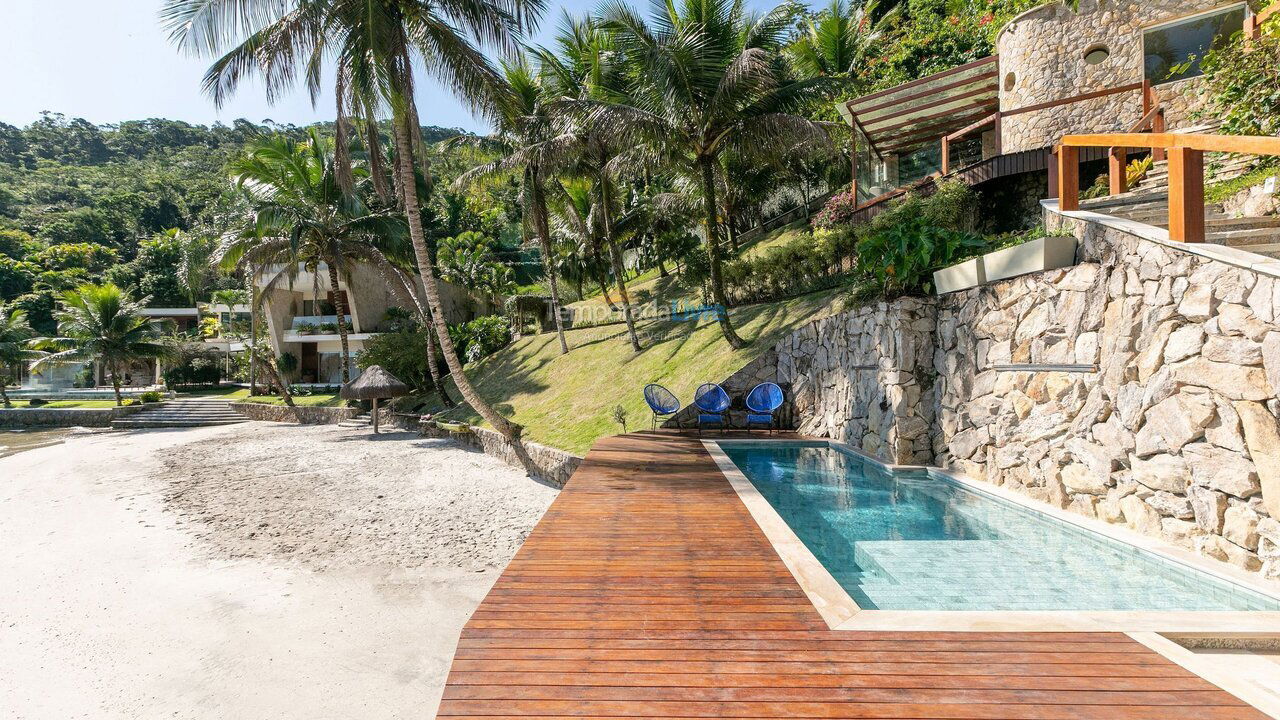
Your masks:
M 1069 135 L 1057 147 L 1056 190 L 1061 210 L 1080 209 L 1082 147 L 1140 147 L 1152 152 L 1167 152 L 1169 240 L 1204 242 L 1204 152 L 1280 156 L 1280 137 L 1158 132 Z M 1115 163 L 1111 165 L 1115 172 Z M 1124 173 L 1123 165 L 1119 172 Z M 1114 177 L 1111 182 L 1115 184 Z M 1052 190 L 1051 187 L 1051 195 Z

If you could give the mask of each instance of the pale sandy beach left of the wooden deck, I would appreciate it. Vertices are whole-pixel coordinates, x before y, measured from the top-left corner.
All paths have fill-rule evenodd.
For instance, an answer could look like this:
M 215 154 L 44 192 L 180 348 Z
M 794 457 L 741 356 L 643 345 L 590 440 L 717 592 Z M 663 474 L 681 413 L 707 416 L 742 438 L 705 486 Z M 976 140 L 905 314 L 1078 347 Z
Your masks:
M 5 457 L 0 717 L 430 717 L 553 497 L 443 441 L 335 427 Z

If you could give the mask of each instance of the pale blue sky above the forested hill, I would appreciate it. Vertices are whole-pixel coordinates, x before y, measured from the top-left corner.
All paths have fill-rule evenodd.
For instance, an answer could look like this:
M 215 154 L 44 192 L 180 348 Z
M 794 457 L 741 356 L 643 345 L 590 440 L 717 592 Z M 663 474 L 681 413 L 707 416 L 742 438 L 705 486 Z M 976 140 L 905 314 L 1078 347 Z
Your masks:
M 754 0 L 764 5 L 765 0 Z M 0 9 L 0 122 L 26 126 L 41 110 L 105 124 L 170 118 L 209 124 L 237 118 L 305 124 L 333 117 L 305 91 L 268 105 L 242 86 L 221 110 L 200 92 L 209 61 L 180 55 L 160 28 L 160 0 L 5 0 Z M 584 13 L 595 0 L 552 3 L 539 42 L 554 32 L 561 9 Z M 422 123 L 483 132 L 483 123 L 430 82 L 419 90 Z

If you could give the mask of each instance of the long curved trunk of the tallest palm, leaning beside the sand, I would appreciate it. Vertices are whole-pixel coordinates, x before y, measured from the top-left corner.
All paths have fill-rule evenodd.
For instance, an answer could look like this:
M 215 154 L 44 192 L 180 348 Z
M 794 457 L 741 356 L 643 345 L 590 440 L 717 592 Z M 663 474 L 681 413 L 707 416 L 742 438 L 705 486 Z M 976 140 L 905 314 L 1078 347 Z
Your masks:
M 411 105 L 412 97 L 404 97 L 404 104 Z M 399 177 L 399 191 L 404 201 L 404 215 L 408 219 L 408 234 L 410 240 L 413 242 L 413 256 L 417 260 L 417 270 L 422 275 L 422 286 L 426 288 L 426 302 L 431 307 L 431 320 L 435 325 L 435 334 L 440 341 L 440 350 L 444 354 L 444 363 L 449 366 L 449 374 L 453 375 L 453 384 L 462 393 L 462 398 L 471 405 L 471 409 L 480 414 L 481 418 L 488 421 L 493 429 L 502 433 L 507 439 L 516 439 L 520 436 L 520 425 L 507 420 L 499 415 L 493 407 L 489 406 L 480 393 L 471 387 L 471 382 L 467 379 L 466 374 L 462 372 L 462 361 L 458 359 L 458 352 L 453 347 L 453 340 L 449 338 L 449 328 L 444 323 L 444 311 L 440 304 L 440 290 L 435 284 L 435 268 L 431 264 L 431 258 L 428 255 L 426 250 L 426 237 L 422 232 L 422 215 L 417 205 L 417 184 L 415 182 L 413 165 L 415 154 L 413 143 L 410 137 L 415 128 L 410 127 L 410 118 L 413 113 L 408 109 L 397 113 L 393 119 L 396 127 L 396 167 L 397 174 Z

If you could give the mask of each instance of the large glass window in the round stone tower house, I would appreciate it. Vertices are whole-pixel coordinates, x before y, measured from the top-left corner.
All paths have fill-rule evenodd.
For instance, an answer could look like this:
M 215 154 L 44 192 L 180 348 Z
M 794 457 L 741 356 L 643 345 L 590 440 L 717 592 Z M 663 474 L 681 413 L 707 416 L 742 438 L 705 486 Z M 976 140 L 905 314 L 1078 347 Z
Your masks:
M 1146 78 L 1152 85 L 1202 74 L 1201 60 L 1244 27 L 1244 5 L 1194 15 L 1143 32 Z

